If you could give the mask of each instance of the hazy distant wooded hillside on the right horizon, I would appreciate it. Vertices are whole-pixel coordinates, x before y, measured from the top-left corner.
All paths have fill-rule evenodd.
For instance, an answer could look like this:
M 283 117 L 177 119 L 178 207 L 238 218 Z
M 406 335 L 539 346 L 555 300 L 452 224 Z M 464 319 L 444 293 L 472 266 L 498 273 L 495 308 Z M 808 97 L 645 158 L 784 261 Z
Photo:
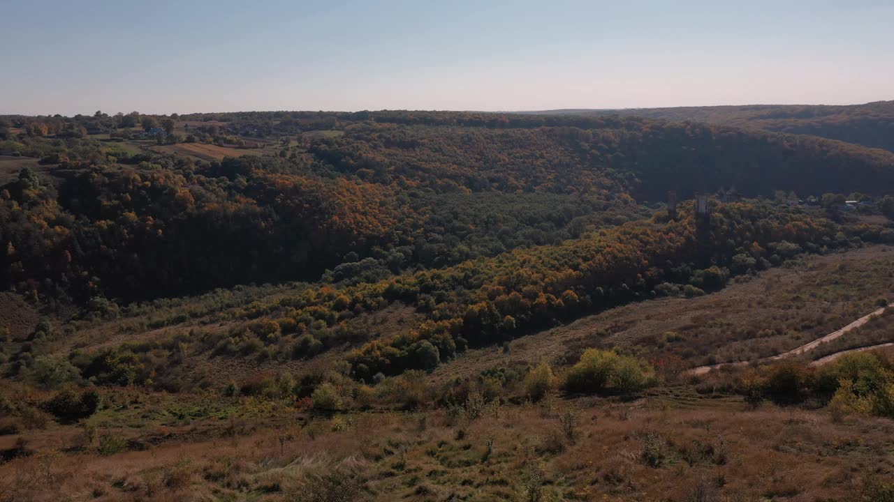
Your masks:
M 894 101 L 865 105 L 746 105 L 566 109 L 533 114 L 638 116 L 668 121 L 701 121 L 734 127 L 811 134 L 894 151 Z

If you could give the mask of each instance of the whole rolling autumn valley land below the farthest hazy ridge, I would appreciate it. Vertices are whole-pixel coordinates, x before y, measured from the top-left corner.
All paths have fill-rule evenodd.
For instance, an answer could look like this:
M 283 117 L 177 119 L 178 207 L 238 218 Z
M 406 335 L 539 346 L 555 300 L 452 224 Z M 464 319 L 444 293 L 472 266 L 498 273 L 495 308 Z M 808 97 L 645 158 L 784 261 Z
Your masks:
M 864 349 L 894 153 L 617 115 L 8 120 L 2 502 L 890 494 L 894 358 Z

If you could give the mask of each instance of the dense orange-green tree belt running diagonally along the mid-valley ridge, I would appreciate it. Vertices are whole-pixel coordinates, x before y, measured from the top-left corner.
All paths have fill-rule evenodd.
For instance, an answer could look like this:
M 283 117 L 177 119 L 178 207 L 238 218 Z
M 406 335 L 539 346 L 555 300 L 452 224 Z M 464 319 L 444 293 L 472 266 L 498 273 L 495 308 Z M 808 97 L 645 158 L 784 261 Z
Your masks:
M 436 347 L 443 360 L 468 346 L 651 297 L 665 282 L 721 288 L 730 267 L 742 273 L 780 263 L 784 258 L 777 253 L 788 251 L 778 243 L 819 250 L 817 243 L 837 245 L 839 230 L 827 220 L 769 204 L 724 205 L 708 229 L 696 229 L 690 217 L 658 228 L 628 223 L 561 246 L 401 276 L 384 286 L 384 297 L 418 305 L 429 321 L 409 336 L 374 340 L 350 360 L 359 378 L 393 374 L 421 367 L 424 342 Z M 361 298 L 351 298 L 348 305 Z

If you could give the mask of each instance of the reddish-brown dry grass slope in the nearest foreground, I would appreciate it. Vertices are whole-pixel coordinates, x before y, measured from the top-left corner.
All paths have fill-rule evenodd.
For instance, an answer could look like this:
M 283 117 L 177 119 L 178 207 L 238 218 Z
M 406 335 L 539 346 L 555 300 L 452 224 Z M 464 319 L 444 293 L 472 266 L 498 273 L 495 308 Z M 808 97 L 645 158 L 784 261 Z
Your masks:
M 843 501 L 864 473 L 894 473 L 890 421 L 833 423 L 824 413 L 683 395 L 511 406 L 452 425 L 434 410 L 425 427 L 419 414 L 394 412 L 303 428 L 258 419 L 246 435 L 183 437 L 114 456 L 46 445 L 0 465 L 0 484 L 11 500 L 293 500 L 336 472 L 356 481 L 358 500 L 522 500 L 540 475 L 554 499 L 683 502 L 707 489 L 730 499 Z M 574 440 L 562 430 L 569 406 Z

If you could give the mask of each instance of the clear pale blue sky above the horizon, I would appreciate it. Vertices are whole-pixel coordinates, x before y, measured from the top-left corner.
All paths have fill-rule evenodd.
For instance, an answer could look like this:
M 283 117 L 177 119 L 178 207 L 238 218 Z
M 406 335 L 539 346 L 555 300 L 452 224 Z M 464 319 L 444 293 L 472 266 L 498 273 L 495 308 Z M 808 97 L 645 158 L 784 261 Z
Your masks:
M 0 0 L 0 113 L 894 99 L 894 1 Z

